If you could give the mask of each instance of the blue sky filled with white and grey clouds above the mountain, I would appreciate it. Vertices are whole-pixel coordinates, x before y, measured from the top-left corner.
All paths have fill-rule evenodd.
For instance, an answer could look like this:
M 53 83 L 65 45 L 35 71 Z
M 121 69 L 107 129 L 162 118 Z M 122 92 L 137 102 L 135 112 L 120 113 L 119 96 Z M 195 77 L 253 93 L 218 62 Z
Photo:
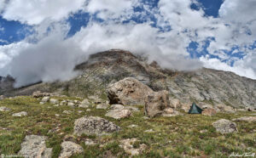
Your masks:
M 111 48 L 256 79 L 256 0 L 0 0 L 0 76 L 65 81 Z

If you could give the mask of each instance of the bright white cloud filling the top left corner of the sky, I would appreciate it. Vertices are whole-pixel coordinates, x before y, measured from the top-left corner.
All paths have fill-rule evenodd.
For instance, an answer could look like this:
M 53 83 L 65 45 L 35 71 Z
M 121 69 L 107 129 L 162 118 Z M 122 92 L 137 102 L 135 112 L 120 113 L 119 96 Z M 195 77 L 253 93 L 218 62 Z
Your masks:
M 4 0 L 1 0 L 0 4 Z M 38 25 L 46 19 L 61 20 L 71 12 L 83 8 L 84 0 L 9 0 L 3 18 Z M 1 9 L 0 9 L 1 10 Z

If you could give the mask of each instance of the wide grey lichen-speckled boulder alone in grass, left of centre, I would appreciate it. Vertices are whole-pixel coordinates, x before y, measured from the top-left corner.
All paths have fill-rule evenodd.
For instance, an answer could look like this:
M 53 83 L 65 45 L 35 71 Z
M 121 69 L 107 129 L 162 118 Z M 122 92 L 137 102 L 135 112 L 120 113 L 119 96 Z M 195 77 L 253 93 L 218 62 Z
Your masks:
M 113 124 L 113 122 L 98 116 L 84 116 L 74 122 L 74 134 L 79 136 L 82 133 L 87 135 L 104 135 L 119 130 L 120 127 Z

